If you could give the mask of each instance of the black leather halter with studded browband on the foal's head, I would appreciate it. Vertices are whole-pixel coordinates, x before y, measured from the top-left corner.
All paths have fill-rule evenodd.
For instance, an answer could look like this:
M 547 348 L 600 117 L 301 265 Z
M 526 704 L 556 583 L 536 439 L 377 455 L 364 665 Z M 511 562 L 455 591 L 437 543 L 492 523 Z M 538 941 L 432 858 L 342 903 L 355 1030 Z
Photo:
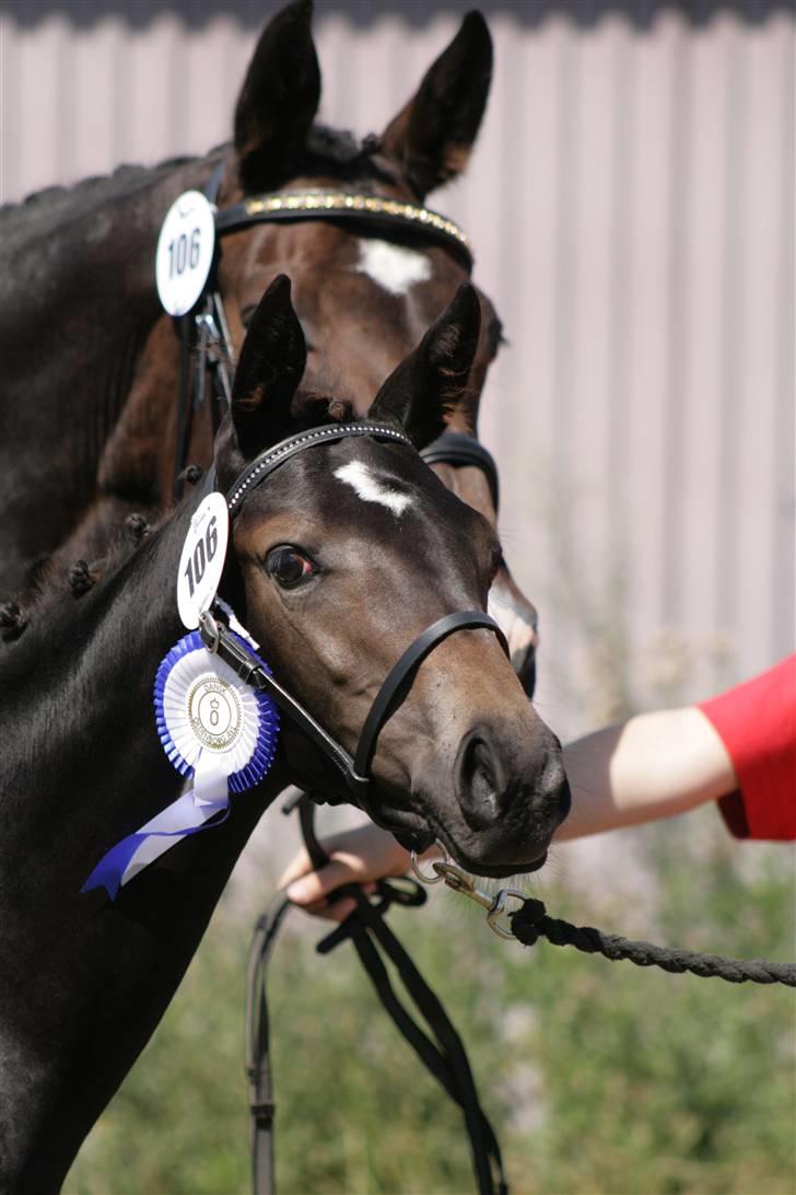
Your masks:
M 286 460 L 290 460 L 296 453 L 351 436 L 372 436 L 375 440 L 388 440 L 405 445 L 412 452 L 415 452 L 412 442 L 403 433 L 380 423 L 327 424 L 321 428 L 313 428 L 310 431 L 302 431 L 266 449 L 266 452 L 261 453 L 243 470 L 227 495 L 230 517 L 235 517 L 253 489 L 260 485 L 274 470 Z M 456 611 L 437 619 L 436 623 L 432 623 L 430 627 L 409 644 L 387 674 L 365 718 L 354 756 L 351 756 L 345 747 L 337 742 L 315 721 L 311 713 L 283 688 L 279 681 L 270 676 L 257 663 L 222 621 L 206 612 L 202 615 L 199 630 L 203 643 L 209 651 L 217 654 L 245 684 L 252 685 L 254 688 L 265 690 L 298 729 L 320 747 L 343 773 L 354 803 L 372 817 L 374 810 L 369 799 L 371 784 L 370 765 L 376 750 L 380 731 L 393 712 L 397 694 L 402 690 L 402 686 L 411 680 L 422 660 L 433 651 L 438 643 L 446 639 L 453 631 L 467 627 L 486 627 L 492 631 L 498 636 L 504 651 L 508 655 L 508 644 L 506 643 L 505 635 L 495 620 L 485 614 L 483 611 Z

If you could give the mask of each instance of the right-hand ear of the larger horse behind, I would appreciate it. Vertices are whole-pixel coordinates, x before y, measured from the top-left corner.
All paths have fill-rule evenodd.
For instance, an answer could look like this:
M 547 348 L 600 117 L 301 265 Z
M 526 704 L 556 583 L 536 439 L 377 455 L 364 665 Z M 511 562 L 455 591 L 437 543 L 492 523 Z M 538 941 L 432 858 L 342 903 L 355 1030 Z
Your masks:
M 401 164 L 418 198 L 467 166 L 490 80 L 489 30 L 480 12 L 469 12 L 414 98 L 382 136 L 384 152 Z

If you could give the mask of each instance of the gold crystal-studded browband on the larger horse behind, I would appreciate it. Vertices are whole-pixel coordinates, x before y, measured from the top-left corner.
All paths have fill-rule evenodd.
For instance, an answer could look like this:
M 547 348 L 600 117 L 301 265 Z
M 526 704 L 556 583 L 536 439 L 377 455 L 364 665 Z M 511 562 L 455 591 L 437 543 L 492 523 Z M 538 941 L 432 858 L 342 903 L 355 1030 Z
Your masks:
M 348 191 L 280 191 L 253 195 L 223 208 L 216 214 L 216 232 L 237 232 L 249 225 L 270 220 L 377 220 L 384 225 L 407 225 L 457 249 L 473 265 L 473 250 L 467 234 L 446 216 L 416 203 L 389 200 L 381 195 L 354 195 Z

